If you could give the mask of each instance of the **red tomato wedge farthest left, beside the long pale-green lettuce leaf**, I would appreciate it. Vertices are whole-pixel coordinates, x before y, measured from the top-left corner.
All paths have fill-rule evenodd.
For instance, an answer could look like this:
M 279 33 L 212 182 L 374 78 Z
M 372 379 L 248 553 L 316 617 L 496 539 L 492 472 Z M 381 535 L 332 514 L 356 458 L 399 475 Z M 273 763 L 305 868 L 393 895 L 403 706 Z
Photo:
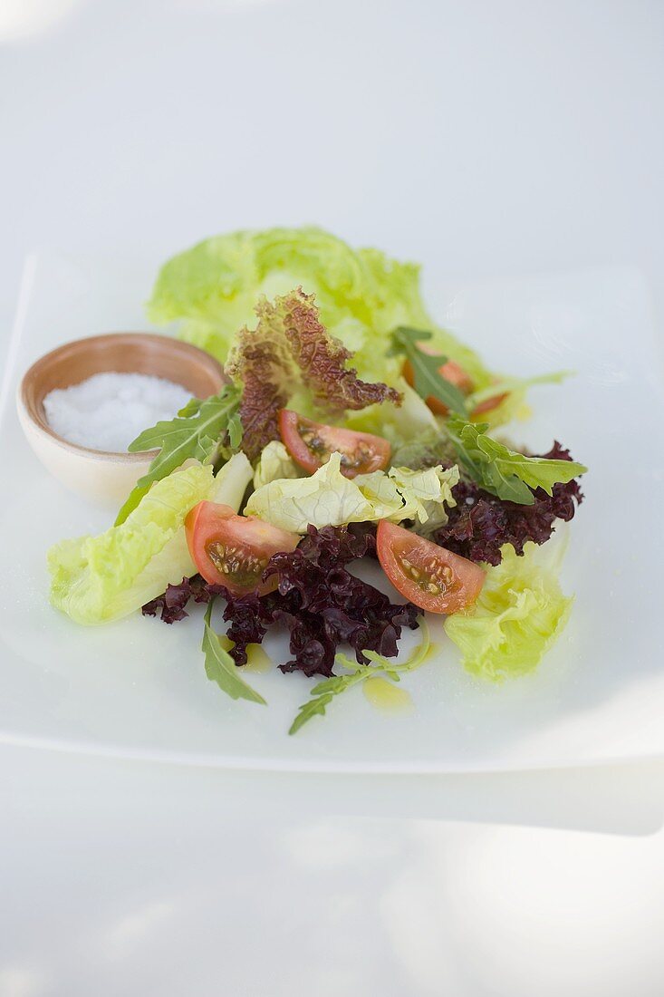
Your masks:
M 211 585 L 225 585 L 233 595 L 276 586 L 276 577 L 261 582 L 265 565 L 280 550 L 294 550 L 301 537 L 271 526 L 253 515 L 237 515 L 229 505 L 201 501 L 184 520 L 186 543 L 196 568 Z

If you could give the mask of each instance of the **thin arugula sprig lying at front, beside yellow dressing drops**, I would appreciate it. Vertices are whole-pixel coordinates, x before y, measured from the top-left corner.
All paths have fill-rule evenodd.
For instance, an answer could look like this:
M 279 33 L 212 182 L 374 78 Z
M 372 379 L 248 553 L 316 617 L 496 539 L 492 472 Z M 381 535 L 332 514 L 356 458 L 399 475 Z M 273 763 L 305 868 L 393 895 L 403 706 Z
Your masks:
M 295 720 L 290 725 L 289 734 L 296 734 L 312 717 L 325 716 L 325 711 L 335 696 L 341 695 L 360 682 L 384 675 L 393 682 L 399 682 L 404 672 L 413 672 L 424 664 L 432 649 L 429 627 L 424 616 L 420 617 L 422 640 L 406 661 L 391 661 L 376 651 L 363 651 L 371 664 L 360 665 L 345 654 L 337 654 L 335 661 L 348 669 L 348 675 L 332 675 L 329 679 L 319 682 L 311 690 L 311 699 L 299 708 Z

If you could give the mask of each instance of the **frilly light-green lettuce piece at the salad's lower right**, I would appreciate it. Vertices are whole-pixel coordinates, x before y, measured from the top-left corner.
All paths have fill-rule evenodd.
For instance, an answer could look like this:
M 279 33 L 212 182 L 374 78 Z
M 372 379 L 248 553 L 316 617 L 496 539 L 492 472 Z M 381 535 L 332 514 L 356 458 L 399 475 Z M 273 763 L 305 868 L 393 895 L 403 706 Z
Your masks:
M 546 545 L 548 546 L 548 544 Z M 562 632 L 573 597 L 562 594 L 556 564 L 527 543 L 518 557 L 510 544 L 490 567 L 480 598 L 466 613 L 445 621 L 445 630 L 474 675 L 498 681 L 531 671 Z

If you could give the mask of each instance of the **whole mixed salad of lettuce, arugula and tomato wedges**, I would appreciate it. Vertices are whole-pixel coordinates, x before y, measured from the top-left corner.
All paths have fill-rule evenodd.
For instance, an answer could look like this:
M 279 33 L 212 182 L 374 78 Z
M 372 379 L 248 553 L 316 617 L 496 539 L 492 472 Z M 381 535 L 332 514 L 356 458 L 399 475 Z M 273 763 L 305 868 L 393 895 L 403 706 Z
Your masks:
M 173 623 L 206 603 L 208 678 L 260 704 L 238 668 L 285 629 L 280 669 L 324 679 L 290 733 L 353 685 L 419 667 L 428 612 L 474 674 L 537 664 L 571 607 L 540 546 L 586 468 L 557 442 L 534 456 L 494 433 L 566 372 L 491 372 L 433 323 L 416 266 L 317 228 L 199 243 L 166 263 L 149 314 L 218 357 L 227 385 L 134 441 L 157 456 L 115 525 L 49 551 L 55 606 L 82 624 L 138 609 Z M 363 558 L 401 599 L 349 570 Z

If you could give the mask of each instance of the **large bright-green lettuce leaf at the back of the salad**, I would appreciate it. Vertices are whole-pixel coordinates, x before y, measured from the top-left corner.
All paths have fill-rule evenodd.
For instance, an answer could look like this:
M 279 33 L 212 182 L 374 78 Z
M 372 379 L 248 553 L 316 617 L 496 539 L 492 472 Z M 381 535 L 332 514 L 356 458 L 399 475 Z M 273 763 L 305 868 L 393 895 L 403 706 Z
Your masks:
M 473 377 L 492 375 L 478 355 L 438 328 L 424 307 L 420 268 L 378 249 L 352 249 L 321 228 L 235 231 L 199 242 L 163 266 L 148 305 L 153 322 L 180 323 L 179 334 L 225 362 L 235 333 L 255 324 L 253 309 L 301 285 L 315 293 L 323 325 L 355 353 L 364 380 L 394 384 L 401 359 L 386 356 L 396 326 L 433 332 L 432 343 Z

